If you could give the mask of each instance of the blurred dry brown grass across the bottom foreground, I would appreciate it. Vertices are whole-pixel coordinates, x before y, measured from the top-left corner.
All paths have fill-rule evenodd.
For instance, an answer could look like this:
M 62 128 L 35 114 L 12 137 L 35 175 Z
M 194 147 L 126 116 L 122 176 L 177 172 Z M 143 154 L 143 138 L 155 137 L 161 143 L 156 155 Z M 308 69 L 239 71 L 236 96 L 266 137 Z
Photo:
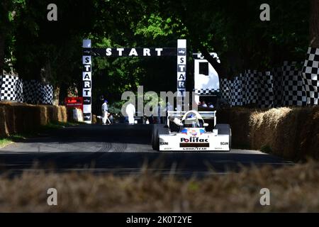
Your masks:
M 318 212 L 319 162 L 183 179 L 142 171 L 115 176 L 24 172 L 0 176 L 1 212 Z M 47 189 L 57 189 L 57 206 Z M 270 206 L 260 190 L 270 191 Z

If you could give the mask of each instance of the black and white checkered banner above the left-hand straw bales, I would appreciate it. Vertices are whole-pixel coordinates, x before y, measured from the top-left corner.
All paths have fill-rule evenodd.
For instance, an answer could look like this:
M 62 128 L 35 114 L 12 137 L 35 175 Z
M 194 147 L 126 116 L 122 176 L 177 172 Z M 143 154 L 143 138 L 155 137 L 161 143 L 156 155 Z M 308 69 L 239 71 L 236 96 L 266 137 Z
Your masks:
M 53 87 L 35 80 L 23 81 L 18 77 L 0 77 L 0 100 L 26 102 L 28 104 L 52 104 Z

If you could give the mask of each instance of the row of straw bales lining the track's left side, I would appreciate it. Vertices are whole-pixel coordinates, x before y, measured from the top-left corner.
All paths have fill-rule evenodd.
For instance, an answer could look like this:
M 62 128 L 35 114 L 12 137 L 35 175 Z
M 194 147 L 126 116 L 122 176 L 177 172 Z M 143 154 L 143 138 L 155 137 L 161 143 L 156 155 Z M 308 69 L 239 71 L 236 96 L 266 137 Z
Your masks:
M 53 121 L 67 121 L 65 106 L 0 103 L 0 137 L 35 132 Z

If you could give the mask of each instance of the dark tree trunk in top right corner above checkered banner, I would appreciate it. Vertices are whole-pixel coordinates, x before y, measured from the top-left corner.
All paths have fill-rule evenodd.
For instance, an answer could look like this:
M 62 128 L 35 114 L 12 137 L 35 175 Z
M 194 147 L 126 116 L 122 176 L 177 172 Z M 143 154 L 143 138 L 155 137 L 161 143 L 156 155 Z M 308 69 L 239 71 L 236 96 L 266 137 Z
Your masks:
M 310 47 L 319 48 L 319 0 L 310 1 Z

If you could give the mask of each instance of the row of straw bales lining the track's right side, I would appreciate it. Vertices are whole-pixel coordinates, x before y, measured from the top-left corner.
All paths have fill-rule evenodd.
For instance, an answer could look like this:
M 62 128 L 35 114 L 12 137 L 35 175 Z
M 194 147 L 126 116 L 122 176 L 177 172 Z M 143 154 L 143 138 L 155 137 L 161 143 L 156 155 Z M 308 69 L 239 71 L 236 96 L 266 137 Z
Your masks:
M 218 123 L 230 123 L 233 147 L 263 150 L 288 160 L 319 159 L 319 106 L 217 111 Z

